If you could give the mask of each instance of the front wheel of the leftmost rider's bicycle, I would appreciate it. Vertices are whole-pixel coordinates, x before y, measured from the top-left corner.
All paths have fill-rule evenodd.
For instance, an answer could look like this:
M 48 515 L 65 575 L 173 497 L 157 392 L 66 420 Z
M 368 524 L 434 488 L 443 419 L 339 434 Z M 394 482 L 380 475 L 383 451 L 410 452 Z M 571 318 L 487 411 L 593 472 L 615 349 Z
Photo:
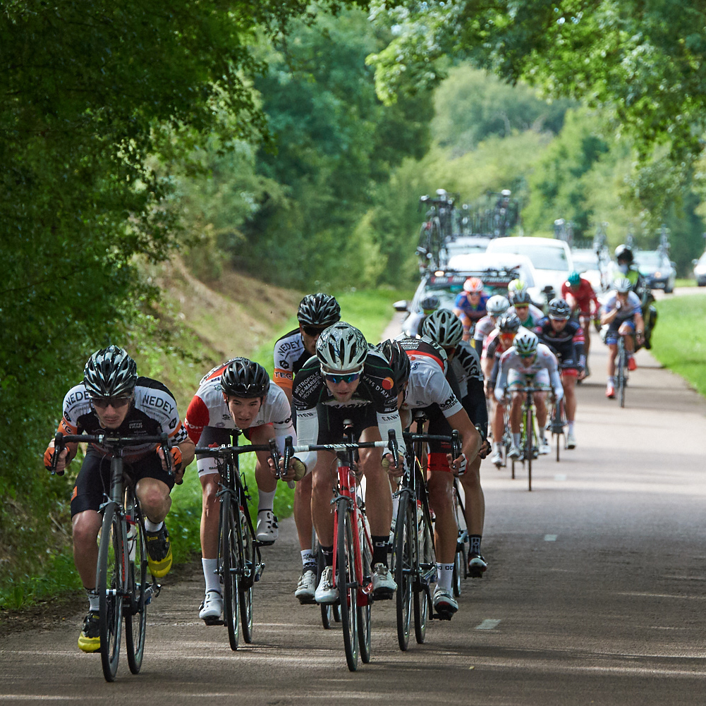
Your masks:
M 100 661 L 105 681 L 114 681 L 120 659 L 125 578 L 123 526 L 116 503 L 104 508 L 98 548 Z

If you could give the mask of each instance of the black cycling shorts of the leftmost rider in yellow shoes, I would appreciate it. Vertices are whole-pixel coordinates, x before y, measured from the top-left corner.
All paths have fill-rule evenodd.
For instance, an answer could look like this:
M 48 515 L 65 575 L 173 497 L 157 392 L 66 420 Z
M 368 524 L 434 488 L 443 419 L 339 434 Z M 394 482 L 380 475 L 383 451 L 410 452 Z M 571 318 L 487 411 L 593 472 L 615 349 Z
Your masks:
M 162 481 L 171 491 L 174 476 L 162 469 L 162 461 L 156 453 L 150 453 L 132 463 L 124 462 L 125 477 L 137 483 L 143 478 L 155 478 Z M 110 457 L 89 449 L 81 466 L 76 485 L 71 493 L 71 517 L 84 510 L 100 509 L 110 495 Z

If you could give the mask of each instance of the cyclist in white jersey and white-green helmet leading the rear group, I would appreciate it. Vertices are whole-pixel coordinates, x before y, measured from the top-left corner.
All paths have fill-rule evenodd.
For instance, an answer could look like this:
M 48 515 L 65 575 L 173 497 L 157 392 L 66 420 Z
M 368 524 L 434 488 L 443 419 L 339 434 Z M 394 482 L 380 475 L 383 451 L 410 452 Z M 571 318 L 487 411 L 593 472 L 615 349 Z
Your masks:
M 500 372 L 495 385 L 495 397 L 498 402 L 504 399 L 505 388 L 514 387 L 549 387 L 554 392 L 556 400 L 561 400 L 564 391 L 561 386 L 558 365 L 554 353 L 544 343 L 539 342 L 536 333 L 522 331 L 515 336 L 513 347 L 503 353 L 500 359 Z M 549 443 L 544 435 L 546 428 L 546 393 L 534 395 L 537 407 L 537 426 L 539 426 L 539 453 L 549 453 Z M 520 421 L 522 420 L 522 402 L 525 394 L 513 393 L 513 403 L 510 409 L 510 429 L 513 431 L 513 444 L 508 456 L 520 457 Z M 529 430 L 527 430 L 529 433 Z

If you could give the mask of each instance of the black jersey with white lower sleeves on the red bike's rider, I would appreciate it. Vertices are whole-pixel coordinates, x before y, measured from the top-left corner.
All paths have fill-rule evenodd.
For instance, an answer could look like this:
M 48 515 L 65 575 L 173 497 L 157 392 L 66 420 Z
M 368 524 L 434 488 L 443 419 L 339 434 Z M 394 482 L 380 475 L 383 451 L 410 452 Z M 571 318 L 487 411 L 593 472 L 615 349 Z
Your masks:
M 297 432 L 299 443 L 315 444 L 317 441 L 330 443 L 331 428 L 340 428 L 342 412 L 354 421 L 358 420 L 361 431 L 369 426 L 378 426 L 383 439 L 388 438 L 388 431 L 394 429 L 400 453 L 405 453 L 405 441 L 402 438 L 402 424 L 397 412 L 397 387 L 393 381 L 393 371 L 388 362 L 377 352 L 371 351 L 365 360 L 363 372 L 352 397 L 347 402 L 339 402 L 328 389 L 321 374 L 321 365 L 316 357 L 309 359 L 304 367 L 294 376 L 292 406 L 297 414 Z M 326 412 L 331 410 L 333 414 Z M 321 412 L 321 419 L 319 417 Z M 372 414 L 375 414 L 373 419 Z M 361 419 L 366 426 L 361 426 Z M 374 422 L 377 424 L 374 424 Z M 321 429 L 320 429 L 321 424 Z M 342 441 L 340 434 L 333 441 Z M 316 452 L 299 456 L 311 471 L 316 464 Z

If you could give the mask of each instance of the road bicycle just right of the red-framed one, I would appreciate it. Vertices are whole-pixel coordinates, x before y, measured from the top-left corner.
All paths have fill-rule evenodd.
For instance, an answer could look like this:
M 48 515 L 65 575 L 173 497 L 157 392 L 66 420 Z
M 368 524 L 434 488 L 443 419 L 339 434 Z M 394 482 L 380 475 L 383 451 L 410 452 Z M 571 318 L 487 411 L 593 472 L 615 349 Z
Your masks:
M 423 433 L 426 416 L 421 410 L 414 412 L 414 421 L 417 424 L 415 432 L 404 435 L 407 445 L 407 468 L 395 493 L 398 505 L 392 570 L 397 583 L 397 643 L 403 651 L 409 646 L 412 614 L 414 638 L 420 645 L 424 642 L 426 623 L 432 606 L 431 583 L 436 580 L 433 525 L 423 474 L 424 445 L 428 441 L 449 443 L 453 457 L 460 455 L 457 431 L 454 430 L 451 436 Z

